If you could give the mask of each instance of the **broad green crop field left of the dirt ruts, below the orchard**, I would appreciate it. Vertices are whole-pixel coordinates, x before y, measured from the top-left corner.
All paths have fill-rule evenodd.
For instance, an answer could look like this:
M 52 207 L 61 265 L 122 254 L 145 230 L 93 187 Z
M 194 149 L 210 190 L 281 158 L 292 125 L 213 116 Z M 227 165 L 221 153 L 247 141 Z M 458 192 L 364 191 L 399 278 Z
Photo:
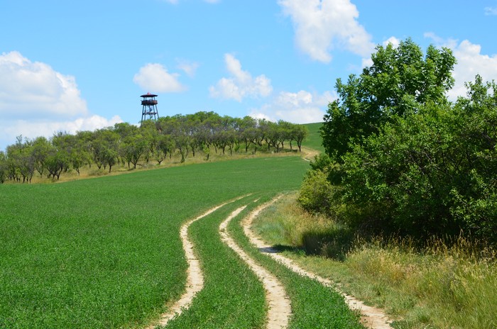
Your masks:
M 0 185 L 0 328 L 134 328 L 180 296 L 179 228 L 251 192 L 297 189 L 300 157 Z

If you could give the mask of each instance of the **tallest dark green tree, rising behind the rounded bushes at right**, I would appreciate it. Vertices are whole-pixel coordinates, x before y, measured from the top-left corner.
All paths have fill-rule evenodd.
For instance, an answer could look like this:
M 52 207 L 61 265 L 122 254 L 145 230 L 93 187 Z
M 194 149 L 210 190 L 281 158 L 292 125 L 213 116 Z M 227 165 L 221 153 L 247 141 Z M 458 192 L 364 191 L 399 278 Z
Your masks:
M 398 48 L 378 45 L 373 65 L 362 74 L 337 79 L 339 100 L 329 104 L 321 128 L 328 155 L 341 162 L 351 141 L 361 143 L 395 116 L 416 112 L 430 101 L 446 104 L 444 93 L 454 84 L 452 51 L 430 45 L 423 57 L 420 47 L 407 39 Z

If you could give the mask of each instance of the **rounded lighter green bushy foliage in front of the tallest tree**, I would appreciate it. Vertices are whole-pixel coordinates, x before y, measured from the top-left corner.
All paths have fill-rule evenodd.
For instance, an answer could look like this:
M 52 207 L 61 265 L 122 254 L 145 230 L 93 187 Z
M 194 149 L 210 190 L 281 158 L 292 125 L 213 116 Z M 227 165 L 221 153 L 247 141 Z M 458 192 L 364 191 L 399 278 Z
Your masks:
M 351 221 L 375 218 L 382 229 L 425 237 L 462 230 L 497 242 L 497 102 L 487 94 L 496 86 L 477 77 L 469 88 L 454 109 L 422 106 L 344 156 Z

